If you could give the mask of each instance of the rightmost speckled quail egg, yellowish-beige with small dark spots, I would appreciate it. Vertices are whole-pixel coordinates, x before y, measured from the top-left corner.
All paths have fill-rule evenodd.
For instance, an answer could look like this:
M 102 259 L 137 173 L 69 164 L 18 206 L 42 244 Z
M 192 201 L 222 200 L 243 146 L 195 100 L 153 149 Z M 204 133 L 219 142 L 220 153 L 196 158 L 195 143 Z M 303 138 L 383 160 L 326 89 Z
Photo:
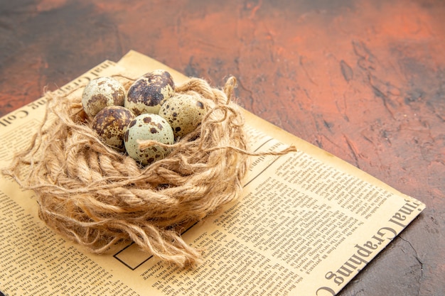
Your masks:
M 177 94 L 167 99 L 159 110 L 159 115 L 173 128 L 175 138 L 194 131 L 200 125 L 205 113 L 203 100 L 191 94 Z

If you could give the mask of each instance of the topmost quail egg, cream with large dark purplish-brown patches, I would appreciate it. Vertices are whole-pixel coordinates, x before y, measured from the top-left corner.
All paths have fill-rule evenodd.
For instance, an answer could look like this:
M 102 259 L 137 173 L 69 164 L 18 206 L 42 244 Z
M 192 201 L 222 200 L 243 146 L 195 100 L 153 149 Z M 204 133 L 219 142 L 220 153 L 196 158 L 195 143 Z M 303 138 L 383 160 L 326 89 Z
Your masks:
M 128 89 L 124 106 L 136 116 L 158 114 L 163 102 L 173 96 L 175 84 L 166 70 L 154 70 L 136 80 Z

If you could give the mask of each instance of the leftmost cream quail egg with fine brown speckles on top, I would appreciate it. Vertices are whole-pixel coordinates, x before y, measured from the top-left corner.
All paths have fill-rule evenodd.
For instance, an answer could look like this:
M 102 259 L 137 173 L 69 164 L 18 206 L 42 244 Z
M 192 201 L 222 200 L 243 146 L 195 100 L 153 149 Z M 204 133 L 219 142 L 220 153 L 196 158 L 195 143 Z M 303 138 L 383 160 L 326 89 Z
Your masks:
M 97 77 L 83 90 L 82 106 L 92 119 L 105 106 L 124 106 L 125 97 L 126 92 L 120 82 L 112 77 Z

